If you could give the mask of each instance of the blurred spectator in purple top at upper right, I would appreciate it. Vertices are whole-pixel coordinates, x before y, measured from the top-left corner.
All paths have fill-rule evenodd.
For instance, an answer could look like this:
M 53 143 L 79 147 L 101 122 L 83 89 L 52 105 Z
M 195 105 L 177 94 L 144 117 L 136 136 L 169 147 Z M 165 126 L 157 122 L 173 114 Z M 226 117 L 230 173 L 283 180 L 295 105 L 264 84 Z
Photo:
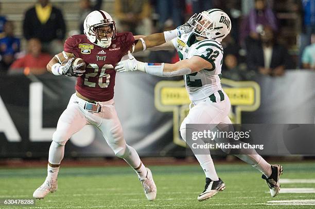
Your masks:
M 241 45 L 247 48 L 251 42 L 256 42 L 259 39 L 259 32 L 266 25 L 274 31 L 278 30 L 276 17 L 268 7 L 266 0 L 255 0 L 255 8 L 250 11 L 241 24 Z

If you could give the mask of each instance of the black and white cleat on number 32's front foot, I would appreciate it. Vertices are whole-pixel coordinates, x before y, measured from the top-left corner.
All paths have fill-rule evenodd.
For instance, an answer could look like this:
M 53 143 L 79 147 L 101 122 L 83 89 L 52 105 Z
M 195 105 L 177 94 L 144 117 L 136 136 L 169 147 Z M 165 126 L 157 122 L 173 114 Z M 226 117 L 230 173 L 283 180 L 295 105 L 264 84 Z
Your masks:
M 206 185 L 204 186 L 204 191 L 198 196 L 198 201 L 207 200 L 213 197 L 220 191 L 225 189 L 224 182 L 219 178 L 218 181 L 212 181 L 209 178 L 206 178 Z

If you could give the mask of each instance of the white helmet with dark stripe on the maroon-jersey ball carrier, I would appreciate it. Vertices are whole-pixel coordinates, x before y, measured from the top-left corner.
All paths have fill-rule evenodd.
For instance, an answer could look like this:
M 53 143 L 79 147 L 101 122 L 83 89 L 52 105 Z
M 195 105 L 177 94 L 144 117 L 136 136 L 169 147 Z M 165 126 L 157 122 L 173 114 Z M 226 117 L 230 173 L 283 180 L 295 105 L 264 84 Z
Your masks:
M 110 31 L 100 30 L 100 27 L 109 26 Z M 112 40 L 116 36 L 116 26 L 111 15 L 102 10 L 96 10 L 88 14 L 85 17 L 84 34 L 88 36 L 90 42 L 103 47 L 108 48 Z M 108 33 L 111 33 L 109 35 Z

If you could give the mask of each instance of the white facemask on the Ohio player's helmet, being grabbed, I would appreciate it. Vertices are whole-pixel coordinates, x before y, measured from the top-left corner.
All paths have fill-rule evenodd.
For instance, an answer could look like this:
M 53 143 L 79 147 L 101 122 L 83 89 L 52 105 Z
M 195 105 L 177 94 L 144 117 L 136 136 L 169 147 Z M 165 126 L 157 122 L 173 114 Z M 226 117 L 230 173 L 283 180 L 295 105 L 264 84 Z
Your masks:
M 215 35 L 215 22 L 209 18 L 208 13 L 203 11 L 197 15 L 197 22 L 193 28 L 196 36 L 202 36 L 207 39 L 214 39 Z

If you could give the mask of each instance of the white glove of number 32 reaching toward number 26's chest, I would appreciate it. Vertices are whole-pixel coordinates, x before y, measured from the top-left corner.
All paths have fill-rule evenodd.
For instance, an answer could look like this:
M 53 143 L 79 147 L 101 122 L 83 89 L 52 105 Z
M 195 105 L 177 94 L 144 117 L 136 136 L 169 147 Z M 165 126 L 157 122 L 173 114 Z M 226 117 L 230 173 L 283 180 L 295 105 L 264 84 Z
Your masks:
M 115 70 L 117 72 L 130 72 L 135 70 L 145 71 L 143 62 L 137 61 L 134 56 L 128 51 L 128 60 L 120 61 L 116 67 Z

